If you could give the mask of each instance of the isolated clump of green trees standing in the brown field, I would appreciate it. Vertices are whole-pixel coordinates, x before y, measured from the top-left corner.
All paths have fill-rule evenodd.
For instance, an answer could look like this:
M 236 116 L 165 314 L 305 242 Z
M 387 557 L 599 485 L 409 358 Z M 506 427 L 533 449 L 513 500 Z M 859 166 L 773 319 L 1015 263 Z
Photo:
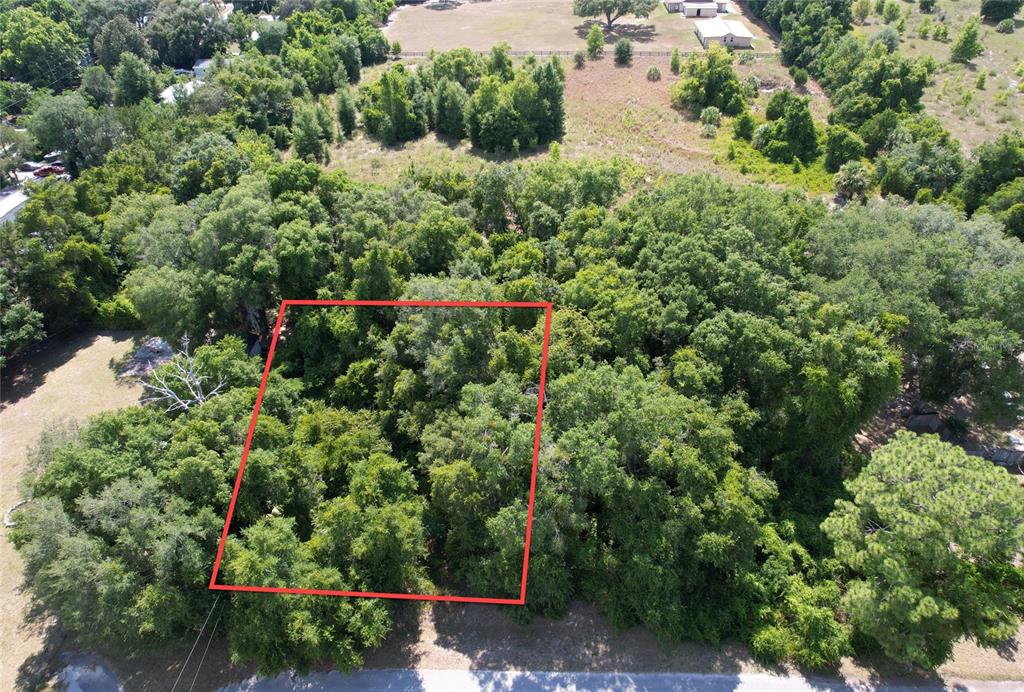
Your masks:
M 565 75 L 557 57 L 514 68 L 508 44 L 484 59 L 468 48 L 426 66 L 394 66 L 360 89 L 367 132 L 387 144 L 436 130 L 468 136 L 484 152 L 518 153 L 559 139 L 565 129 Z

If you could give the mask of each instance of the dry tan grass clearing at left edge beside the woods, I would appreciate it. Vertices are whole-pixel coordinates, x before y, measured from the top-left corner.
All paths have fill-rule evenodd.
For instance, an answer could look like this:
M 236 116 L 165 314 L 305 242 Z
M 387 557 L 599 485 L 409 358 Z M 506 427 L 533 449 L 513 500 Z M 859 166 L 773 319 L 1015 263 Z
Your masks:
M 29 448 L 48 424 L 79 421 L 131 405 L 137 384 L 118 382 L 112 364 L 134 344 L 134 333 L 103 332 L 73 337 L 28 362 L 15 363 L 0 384 L 0 511 L 19 498 L 18 481 Z M 22 561 L 0 538 L 0 690 L 13 690 L 19 676 L 45 665 L 51 654 L 46 629 L 26 623 L 29 600 L 20 592 Z M 56 645 L 58 642 L 49 642 Z M 23 678 L 24 682 L 24 678 Z

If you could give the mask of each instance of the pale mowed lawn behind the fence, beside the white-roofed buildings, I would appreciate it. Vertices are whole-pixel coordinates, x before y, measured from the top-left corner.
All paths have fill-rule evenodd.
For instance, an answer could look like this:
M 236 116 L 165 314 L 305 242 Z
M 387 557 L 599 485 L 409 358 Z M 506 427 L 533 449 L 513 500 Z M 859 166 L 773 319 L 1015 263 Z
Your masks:
M 738 7 L 734 8 L 738 11 Z M 754 34 L 754 49 L 775 50 L 763 26 L 750 16 L 742 19 Z M 571 0 L 489 0 L 441 4 L 402 5 L 390 17 L 385 35 L 398 41 L 403 51 L 449 50 L 467 47 L 488 50 L 505 41 L 513 50 L 578 50 L 586 46 L 587 31 L 597 19 L 572 14 Z M 700 50 L 693 20 L 669 13 L 658 5 L 649 17 L 625 16 L 614 23 L 607 43 L 620 38 L 636 42 L 636 49 Z

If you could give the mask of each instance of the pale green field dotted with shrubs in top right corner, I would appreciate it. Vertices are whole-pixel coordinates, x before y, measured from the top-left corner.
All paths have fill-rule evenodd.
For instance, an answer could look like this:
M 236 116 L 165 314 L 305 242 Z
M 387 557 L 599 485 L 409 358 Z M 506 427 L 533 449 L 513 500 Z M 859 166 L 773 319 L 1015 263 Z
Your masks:
M 931 56 L 939 62 L 939 72 L 925 91 L 927 113 L 935 116 L 959 139 L 967 150 L 992 139 L 1000 132 L 1021 128 L 1024 123 L 1024 19 L 1018 17 L 1013 34 L 999 34 L 991 24 L 982 24 L 981 43 L 985 52 L 968 64 L 949 61 L 949 51 L 961 29 L 978 13 L 978 2 L 939 0 L 935 12 L 923 14 L 916 4 L 901 3 L 906 14 L 906 32 L 900 52 Z M 922 38 L 924 23 L 932 28 L 944 24 L 948 41 Z M 855 31 L 870 36 L 884 26 L 872 15 Z M 978 78 L 985 75 L 984 88 Z

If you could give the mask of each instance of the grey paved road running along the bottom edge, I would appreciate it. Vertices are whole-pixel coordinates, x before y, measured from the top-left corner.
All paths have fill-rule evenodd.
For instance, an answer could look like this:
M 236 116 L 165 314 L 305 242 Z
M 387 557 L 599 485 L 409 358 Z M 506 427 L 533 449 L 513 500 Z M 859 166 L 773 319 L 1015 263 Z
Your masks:
M 784 678 L 764 674 L 710 675 L 698 673 L 543 673 L 499 671 L 384 669 L 357 671 L 350 675 L 317 673 L 306 677 L 278 676 L 250 679 L 221 688 L 220 692 L 534 692 L 563 690 L 583 692 L 623 690 L 626 692 L 791 692 L 822 690 L 857 692 L 884 689 L 886 692 L 956 690 L 957 692 L 1010 692 L 1021 683 L 947 681 L 945 685 L 848 684 L 836 680 Z

